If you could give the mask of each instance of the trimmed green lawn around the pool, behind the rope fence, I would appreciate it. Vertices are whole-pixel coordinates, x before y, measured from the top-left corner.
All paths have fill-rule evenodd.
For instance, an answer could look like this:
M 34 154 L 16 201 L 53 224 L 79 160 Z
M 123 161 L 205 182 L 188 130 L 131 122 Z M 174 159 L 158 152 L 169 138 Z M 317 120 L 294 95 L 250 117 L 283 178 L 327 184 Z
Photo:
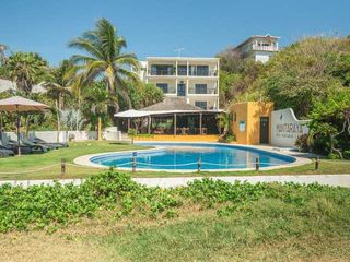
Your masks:
M 73 163 L 73 159 L 81 155 L 126 151 L 140 148 L 138 145 L 112 142 L 73 142 L 69 148 L 51 151 L 45 154 L 23 155 L 21 157 L 0 158 L 0 179 L 51 179 L 61 178 L 60 166 L 42 169 L 38 171 L 20 174 L 23 171 L 32 171 L 45 168 L 50 165 L 60 164 L 61 158 L 66 158 L 67 163 Z M 281 168 L 267 171 L 225 171 L 225 172 L 202 172 L 200 176 L 236 176 L 236 175 L 296 175 L 296 174 L 347 174 L 350 170 L 350 162 L 348 160 L 322 160 L 319 170 L 315 171 L 314 164 L 308 164 L 293 168 Z M 101 170 L 90 167 L 67 166 L 65 178 L 81 178 L 86 175 L 97 174 Z M 14 174 L 1 174 L 14 172 Z M 133 174 L 136 177 L 165 177 L 165 176 L 199 176 L 198 174 L 179 174 L 179 172 L 155 172 L 155 171 L 138 171 Z

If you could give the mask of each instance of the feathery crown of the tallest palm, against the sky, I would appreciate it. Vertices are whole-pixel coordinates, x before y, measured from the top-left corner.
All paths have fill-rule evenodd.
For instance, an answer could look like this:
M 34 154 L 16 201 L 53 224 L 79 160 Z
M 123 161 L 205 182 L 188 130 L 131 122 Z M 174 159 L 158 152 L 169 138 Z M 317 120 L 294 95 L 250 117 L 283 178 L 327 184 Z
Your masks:
M 110 95 L 119 95 L 128 99 L 125 95 L 127 82 L 139 83 L 139 78 L 127 68 L 138 69 L 140 64 L 135 53 L 121 52 L 126 46 L 126 40 L 117 34 L 117 29 L 106 19 L 100 19 L 93 31 L 88 31 L 69 43 L 69 47 L 85 52 L 85 55 L 71 57 L 74 64 L 83 68 L 85 81 L 103 79 Z M 118 104 L 114 108 L 117 106 Z

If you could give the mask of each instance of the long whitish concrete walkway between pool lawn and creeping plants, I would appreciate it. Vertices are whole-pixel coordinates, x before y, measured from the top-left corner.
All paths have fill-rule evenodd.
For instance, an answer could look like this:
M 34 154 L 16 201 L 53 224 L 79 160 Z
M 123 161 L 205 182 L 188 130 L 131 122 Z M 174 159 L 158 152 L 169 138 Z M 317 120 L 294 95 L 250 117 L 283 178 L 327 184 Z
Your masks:
M 346 187 L 350 188 L 350 174 L 349 175 L 298 175 L 298 176 L 237 176 L 237 177 L 211 177 L 214 180 L 222 180 L 225 182 L 295 182 L 295 183 L 314 183 L 327 184 L 331 187 Z M 141 184 L 148 187 L 161 187 L 161 188 L 172 188 L 178 186 L 186 186 L 188 182 L 195 179 L 202 179 L 202 177 L 168 177 L 168 178 L 132 178 Z M 73 183 L 75 186 L 81 184 L 84 179 L 60 179 L 61 184 Z M 4 183 L 11 183 L 13 186 L 34 186 L 34 184 L 45 184 L 52 186 L 54 180 L 11 180 L 11 181 L 0 181 L 0 186 Z

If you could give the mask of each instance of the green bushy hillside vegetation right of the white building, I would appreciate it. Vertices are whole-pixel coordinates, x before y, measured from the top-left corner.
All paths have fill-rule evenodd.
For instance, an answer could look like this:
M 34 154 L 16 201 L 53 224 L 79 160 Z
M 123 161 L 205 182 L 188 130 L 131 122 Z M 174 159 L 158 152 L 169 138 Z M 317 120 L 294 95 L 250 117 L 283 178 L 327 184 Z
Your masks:
M 307 37 L 266 64 L 241 59 L 230 48 L 218 56 L 222 106 L 272 100 L 276 109 L 292 108 L 299 118 L 312 120 L 308 138 L 298 142 L 303 151 L 349 156 L 349 37 Z

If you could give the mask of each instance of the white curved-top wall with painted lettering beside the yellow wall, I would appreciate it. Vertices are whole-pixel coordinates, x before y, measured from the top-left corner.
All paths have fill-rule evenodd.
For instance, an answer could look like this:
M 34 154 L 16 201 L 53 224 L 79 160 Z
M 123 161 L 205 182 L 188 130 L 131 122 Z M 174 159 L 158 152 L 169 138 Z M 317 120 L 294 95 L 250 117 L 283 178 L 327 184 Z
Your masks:
M 271 144 L 277 146 L 295 146 L 296 139 L 308 133 L 307 122 L 299 120 L 293 109 L 276 110 L 271 114 Z

